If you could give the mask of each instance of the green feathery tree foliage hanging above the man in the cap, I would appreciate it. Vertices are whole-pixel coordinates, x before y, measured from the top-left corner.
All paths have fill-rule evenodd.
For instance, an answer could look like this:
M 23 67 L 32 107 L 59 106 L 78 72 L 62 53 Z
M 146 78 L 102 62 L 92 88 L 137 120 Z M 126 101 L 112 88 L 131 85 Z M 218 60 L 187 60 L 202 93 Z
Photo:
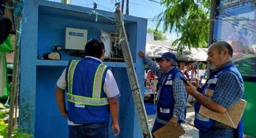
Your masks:
M 184 47 L 207 47 L 210 22 L 210 0 L 161 0 L 166 10 L 158 14 L 157 27 L 163 22 L 164 32 L 180 35 L 173 41 L 178 53 Z

